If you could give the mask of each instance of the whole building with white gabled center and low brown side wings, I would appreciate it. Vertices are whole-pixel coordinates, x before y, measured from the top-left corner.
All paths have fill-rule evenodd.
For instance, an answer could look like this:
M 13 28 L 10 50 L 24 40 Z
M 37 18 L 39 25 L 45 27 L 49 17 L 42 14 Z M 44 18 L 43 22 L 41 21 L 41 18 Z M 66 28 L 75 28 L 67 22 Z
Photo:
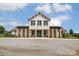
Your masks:
M 62 38 L 63 28 L 50 26 L 50 18 L 38 12 L 28 19 L 28 26 L 16 26 L 11 32 L 15 37 Z

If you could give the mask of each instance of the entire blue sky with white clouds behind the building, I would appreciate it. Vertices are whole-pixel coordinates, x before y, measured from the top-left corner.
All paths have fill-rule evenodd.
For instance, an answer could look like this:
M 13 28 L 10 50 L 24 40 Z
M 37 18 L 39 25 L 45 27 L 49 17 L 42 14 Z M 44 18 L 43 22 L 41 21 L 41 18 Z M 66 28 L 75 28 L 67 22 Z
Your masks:
M 26 26 L 29 17 L 37 12 L 47 15 L 52 26 L 61 26 L 67 31 L 79 33 L 78 3 L 2 3 L 0 25 L 10 31 L 16 26 Z

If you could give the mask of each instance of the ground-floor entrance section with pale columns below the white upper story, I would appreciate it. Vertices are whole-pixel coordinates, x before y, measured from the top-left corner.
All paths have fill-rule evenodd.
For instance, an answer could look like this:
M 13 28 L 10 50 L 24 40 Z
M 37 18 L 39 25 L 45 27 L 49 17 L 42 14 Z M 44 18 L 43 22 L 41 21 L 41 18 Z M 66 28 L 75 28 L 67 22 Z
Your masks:
M 49 37 L 48 30 L 29 30 L 29 37 Z

